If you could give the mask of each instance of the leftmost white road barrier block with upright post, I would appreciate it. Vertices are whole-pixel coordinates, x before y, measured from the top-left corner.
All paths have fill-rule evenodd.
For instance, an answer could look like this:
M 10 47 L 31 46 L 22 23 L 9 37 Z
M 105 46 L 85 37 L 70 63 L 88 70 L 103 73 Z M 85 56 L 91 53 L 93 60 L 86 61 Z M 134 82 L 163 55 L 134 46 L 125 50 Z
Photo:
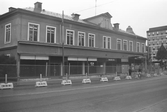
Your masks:
M 5 74 L 5 83 L 0 83 L 0 89 L 13 89 L 13 83 L 8 83 L 8 76 Z

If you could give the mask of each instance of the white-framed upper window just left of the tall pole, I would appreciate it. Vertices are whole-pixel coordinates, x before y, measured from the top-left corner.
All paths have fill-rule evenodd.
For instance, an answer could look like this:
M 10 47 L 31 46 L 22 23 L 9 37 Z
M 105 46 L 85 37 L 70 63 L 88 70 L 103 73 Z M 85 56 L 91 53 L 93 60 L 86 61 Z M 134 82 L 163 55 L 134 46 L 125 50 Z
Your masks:
M 46 26 L 46 42 L 55 43 L 56 42 L 56 28 L 51 26 Z

